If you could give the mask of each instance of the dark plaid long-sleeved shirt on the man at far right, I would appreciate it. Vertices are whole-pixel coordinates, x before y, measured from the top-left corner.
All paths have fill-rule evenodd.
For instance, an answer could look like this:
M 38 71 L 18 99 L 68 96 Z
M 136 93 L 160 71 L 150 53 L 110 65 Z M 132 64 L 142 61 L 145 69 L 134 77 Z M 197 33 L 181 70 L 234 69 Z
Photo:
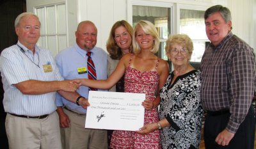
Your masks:
M 206 48 L 201 66 L 202 103 L 205 110 L 229 109 L 226 129 L 236 133 L 252 104 L 255 91 L 255 54 L 230 31 L 214 47 Z

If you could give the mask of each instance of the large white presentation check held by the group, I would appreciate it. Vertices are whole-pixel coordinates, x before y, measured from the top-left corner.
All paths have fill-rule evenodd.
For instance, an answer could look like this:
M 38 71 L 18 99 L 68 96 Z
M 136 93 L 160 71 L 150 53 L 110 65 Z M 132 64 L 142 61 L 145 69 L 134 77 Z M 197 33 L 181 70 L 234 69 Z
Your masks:
M 85 128 L 139 130 L 143 127 L 145 93 L 89 91 Z

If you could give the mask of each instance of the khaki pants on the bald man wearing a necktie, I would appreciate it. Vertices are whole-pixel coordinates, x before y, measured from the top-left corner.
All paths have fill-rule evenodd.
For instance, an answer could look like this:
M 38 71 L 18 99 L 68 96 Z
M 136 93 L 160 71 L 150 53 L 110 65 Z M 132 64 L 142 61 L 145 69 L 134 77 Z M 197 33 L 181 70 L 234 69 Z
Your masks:
M 86 115 L 63 109 L 70 120 L 68 128 L 61 129 L 64 149 L 107 149 L 107 130 L 84 129 Z

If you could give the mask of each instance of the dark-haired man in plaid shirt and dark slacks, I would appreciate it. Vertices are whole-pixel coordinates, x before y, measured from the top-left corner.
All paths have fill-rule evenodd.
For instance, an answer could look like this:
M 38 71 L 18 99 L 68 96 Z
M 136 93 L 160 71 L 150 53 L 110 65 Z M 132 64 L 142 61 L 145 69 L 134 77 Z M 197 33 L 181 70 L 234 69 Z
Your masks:
M 255 54 L 231 32 L 231 14 L 221 5 L 205 11 L 211 41 L 201 62 L 202 104 L 207 111 L 205 148 L 254 148 Z

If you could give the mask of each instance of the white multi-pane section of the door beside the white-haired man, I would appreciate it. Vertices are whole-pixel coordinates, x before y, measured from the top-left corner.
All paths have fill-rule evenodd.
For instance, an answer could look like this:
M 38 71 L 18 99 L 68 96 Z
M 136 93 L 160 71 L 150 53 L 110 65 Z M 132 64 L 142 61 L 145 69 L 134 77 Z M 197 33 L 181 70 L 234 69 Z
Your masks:
M 56 56 L 58 52 L 67 48 L 65 4 L 40 6 L 36 8 L 36 14 L 41 22 L 41 35 L 37 45 L 49 49 L 52 56 Z

